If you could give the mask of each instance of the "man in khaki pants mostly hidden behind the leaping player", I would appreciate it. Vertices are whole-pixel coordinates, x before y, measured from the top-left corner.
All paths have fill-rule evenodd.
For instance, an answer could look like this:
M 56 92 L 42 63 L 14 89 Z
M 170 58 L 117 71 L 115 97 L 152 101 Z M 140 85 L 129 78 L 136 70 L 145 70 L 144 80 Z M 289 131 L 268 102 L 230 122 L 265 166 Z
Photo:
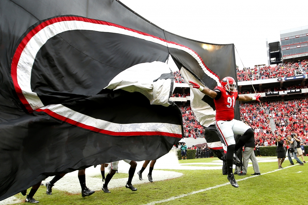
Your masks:
M 246 125 L 248 125 L 247 121 L 243 121 L 243 122 Z M 243 176 L 247 174 L 247 167 L 248 167 L 249 159 L 252 161 L 252 166 L 254 170 L 254 174 L 251 174 L 251 175 L 260 175 L 259 164 L 258 164 L 256 155 L 254 154 L 254 151 L 253 151 L 255 146 L 256 145 L 254 142 L 254 138 L 249 139 L 248 142 L 245 143 L 244 145 L 245 150 L 243 152 L 243 172 L 240 173 L 240 170 L 241 170 L 240 167 L 236 167 L 238 175 Z

